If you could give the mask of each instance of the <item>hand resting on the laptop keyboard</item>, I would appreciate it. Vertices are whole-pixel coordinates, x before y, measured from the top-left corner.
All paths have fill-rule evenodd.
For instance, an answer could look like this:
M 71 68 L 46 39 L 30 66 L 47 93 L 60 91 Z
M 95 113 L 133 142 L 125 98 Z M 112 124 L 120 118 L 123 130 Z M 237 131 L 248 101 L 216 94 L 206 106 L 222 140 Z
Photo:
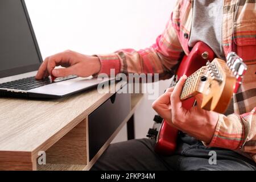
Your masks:
M 55 69 L 55 67 L 64 67 Z M 37 80 L 46 78 L 52 74 L 54 77 L 66 77 L 77 75 L 88 77 L 100 72 L 101 63 L 96 56 L 86 56 L 78 52 L 65 51 L 49 56 L 44 60 L 36 75 Z

